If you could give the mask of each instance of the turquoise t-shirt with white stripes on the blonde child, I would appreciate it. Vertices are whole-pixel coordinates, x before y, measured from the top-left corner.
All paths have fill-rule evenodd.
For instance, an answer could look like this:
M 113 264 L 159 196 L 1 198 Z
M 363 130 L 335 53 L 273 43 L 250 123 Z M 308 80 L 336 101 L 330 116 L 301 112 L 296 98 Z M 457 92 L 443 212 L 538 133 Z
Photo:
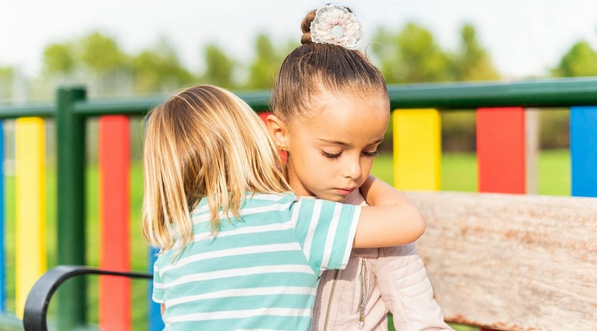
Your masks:
M 361 207 L 294 195 L 247 196 L 210 236 L 203 199 L 194 241 L 154 267 L 165 330 L 309 330 L 322 271 L 346 267 Z

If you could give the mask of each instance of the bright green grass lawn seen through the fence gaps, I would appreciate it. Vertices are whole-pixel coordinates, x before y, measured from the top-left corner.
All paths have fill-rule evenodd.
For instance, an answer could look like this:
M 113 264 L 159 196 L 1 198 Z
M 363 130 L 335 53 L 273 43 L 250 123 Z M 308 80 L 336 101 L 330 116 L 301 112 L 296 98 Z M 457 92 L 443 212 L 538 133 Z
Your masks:
M 393 183 L 393 161 L 391 154 L 381 154 L 371 171 L 380 179 Z M 99 204 L 98 170 L 96 164 L 87 168 L 87 263 L 99 264 Z M 538 193 L 546 195 L 570 195 L 570 153 L 567 150 L 543 151 L 538 161 Z M 477 187 L 475 154 L 442 155 L 441 187 L 446 191 L 475 192 Z M 143 176 L 139 162 L 131 165 L 131 267 L 133 270 L 148 270 L 147 250 L 140 231 L 140 208 L 143 199 Z M 6 307 L 15 310 L 14 303 L 14 177 L 5 178 L 6 203 Z M 47 245 L 48 268 L 56 266 L 56 171 L 48 169 L 46 177 L 47 197 Z M 88 276 L 88 320 L 97 323 L 98 291 L 97 276 Z M 133 329 L 147 329 L 147 299 L 150 283 L 147 280 L 132 282 Z M 50 303 L 50 312 L 56 314 L 56 302 Z M 52 318 L 52 317 L 50 317 Z M 460 329 L 460 328 L 459 328 Z M 467 329 L 461 329 L 462 331 Z

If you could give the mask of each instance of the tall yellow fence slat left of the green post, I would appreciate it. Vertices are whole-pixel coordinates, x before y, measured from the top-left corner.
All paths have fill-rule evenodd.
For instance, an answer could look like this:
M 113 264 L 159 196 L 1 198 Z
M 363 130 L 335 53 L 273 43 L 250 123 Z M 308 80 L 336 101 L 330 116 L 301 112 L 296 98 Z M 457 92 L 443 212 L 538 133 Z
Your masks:
M 18 118 L 15 146 L 16 313 L 23 318 L 27 294 L 47 268 L 44 120 Z

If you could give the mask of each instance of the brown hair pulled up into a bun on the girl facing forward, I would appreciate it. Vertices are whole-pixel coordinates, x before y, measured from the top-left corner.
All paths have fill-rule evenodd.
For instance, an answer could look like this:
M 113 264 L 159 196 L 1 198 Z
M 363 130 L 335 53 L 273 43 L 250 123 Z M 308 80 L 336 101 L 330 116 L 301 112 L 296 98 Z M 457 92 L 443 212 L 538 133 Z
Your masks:
M 272 110 L 282 120 L 309 115 L 313 98 L 324 91 L 387 96 L 386 80 L 361 51 L 311 41 L 315 12 L 309 11 L 301 23 L 303 45 L 288 54 L 276 76 Z

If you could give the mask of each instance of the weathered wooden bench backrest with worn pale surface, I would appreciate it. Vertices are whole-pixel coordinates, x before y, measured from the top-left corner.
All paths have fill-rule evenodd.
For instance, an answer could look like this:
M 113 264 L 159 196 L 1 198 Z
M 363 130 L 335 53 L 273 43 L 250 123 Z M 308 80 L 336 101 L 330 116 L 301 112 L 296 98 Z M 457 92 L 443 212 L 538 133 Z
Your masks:
M 448 321 L 499 330 L 597 328 L 597 198 L 407 192 Z

